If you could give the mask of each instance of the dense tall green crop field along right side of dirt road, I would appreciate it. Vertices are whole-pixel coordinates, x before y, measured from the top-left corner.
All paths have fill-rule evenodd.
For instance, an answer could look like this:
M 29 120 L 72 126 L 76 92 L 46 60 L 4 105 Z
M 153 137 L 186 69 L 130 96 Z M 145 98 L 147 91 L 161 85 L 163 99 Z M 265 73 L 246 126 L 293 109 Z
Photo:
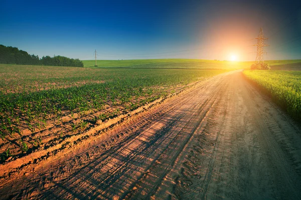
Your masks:
M 301 119 L 301 71 L 244 70 L 243 74 L 295 119 Z

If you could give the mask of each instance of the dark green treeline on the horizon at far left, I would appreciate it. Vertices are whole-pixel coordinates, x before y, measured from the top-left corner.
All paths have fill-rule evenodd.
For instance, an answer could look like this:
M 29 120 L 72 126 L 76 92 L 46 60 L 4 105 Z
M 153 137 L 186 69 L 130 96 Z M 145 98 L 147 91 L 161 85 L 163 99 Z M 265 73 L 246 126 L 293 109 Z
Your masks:
M 5 64 L 33 64 L 33 65 L 52 65 L 52 66 L 80 66 L 84 63 L 79 59 L 73 59 L 65 56 L 43 56 L 41 59 L 38 55 L 30 55 L 24 50 L 17 47 L 4 46 L 0 44 L 0 63 Z

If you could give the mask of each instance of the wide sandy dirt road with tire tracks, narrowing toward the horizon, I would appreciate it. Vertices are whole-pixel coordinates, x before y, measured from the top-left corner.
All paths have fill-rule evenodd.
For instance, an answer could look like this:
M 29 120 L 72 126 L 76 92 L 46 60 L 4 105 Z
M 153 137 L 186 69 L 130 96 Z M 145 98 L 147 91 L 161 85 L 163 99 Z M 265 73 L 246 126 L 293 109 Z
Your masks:
M 20 176 L 1 198 L 299 199 L 301 128 L 243 79 L 215 76 Z

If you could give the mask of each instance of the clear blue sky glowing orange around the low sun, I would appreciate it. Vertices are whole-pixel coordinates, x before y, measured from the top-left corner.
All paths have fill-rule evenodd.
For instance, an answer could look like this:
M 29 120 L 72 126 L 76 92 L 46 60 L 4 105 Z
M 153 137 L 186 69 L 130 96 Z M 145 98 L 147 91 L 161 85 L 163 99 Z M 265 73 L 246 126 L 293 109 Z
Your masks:
M 301 58 L 301 0 L 0 0 L 0 44 L 40 57 L 254 60 L 260 27 Z

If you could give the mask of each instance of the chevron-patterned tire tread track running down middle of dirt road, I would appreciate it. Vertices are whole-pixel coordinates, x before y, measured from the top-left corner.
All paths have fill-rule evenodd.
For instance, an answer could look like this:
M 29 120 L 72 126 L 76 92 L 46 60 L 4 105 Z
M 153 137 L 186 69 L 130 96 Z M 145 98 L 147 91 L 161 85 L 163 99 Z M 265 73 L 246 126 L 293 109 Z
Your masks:
M 227 91 L 227 84 L 225 85 L 223 90 Z M 227 104 L 224 104 L 225 101 L 225 98 L 219 98 L 216 110 L 208 115 L 208 122 L 195 135 L 196 142 L 191 144 L 192 147 L 183 162 L 181 173 L 176 178 L 174 193 L 178 198 L 194 199 L 197 196 L 192 194 L 196 194 L 195 191 L 200 189 L 199 187 L 201 187 L 200 190 L 203 192 L 208 188 L 215 162 L 216 149 L 219 148 L 219 135 L 224 124 L 225 110 L 227 108 Z M 222 117 L 216 118 L 217 115 Z M 202 146 L 205 145 L 212 146 L 213 149 L 204 149 L 202 152 Z M 202 171 L 202 169 L 207 167 L 207 171 Z

